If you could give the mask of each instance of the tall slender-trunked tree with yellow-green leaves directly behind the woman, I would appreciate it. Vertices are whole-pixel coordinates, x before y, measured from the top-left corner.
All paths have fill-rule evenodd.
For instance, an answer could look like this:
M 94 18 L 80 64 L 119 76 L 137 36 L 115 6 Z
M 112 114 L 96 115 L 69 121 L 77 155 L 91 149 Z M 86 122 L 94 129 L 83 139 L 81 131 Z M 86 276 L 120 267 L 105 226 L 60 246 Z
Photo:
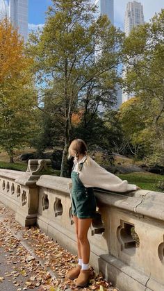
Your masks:
M 123 34 L 106 16 L 95 15 L 96 8 L 88 0 L 53 0 L 42 33 L 31 36 L 29 53 L 35 56 L 35 72 L 54 89 L 51 98 L 64 116 L 61 176 L 67 176 L 72 114 L 79 97 L 86 94 L 89 83 L 115 71 L 120 63 Z

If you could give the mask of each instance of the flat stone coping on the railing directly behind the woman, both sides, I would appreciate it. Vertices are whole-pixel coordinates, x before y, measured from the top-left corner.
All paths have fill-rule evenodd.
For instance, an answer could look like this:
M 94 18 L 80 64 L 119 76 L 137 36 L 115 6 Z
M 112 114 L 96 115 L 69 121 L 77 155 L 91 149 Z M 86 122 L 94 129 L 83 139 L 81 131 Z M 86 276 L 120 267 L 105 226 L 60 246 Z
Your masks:
M 68 183 L 71 178 L 43 175 L 36 183 L 38 186 L 69 194 Z M 95 188 L 95 196 L 100 203 L 128 210 L 138 215 L 164 221 L 164 193 L 138 190 L 126 193 L 108 192 Z

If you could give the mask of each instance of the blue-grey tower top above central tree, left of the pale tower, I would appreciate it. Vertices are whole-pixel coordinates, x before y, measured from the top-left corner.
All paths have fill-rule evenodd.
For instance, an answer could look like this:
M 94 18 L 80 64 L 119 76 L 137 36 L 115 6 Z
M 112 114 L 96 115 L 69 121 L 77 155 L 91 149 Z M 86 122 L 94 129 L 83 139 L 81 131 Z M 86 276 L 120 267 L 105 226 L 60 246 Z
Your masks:
M 114 24 L 114 0 L 95 0 L 95 5 L 101 15 L 106 14 L 111 24 Z

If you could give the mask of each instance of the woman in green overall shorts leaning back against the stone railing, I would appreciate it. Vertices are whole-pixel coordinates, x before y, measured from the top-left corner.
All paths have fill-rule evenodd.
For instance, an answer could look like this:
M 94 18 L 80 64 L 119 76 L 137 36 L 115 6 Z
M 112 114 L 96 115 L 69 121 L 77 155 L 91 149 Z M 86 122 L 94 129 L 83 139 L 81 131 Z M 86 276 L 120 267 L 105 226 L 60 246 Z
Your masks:
M 100 167 L 87 156 L 83 140 L 76 139 L 69 146 L 69 158 L 74 157 L 72 183 L 69 184 L 72 199 L 72 215 L 76 228 L 79 263 L 67 273 L 67 278 L 76 278 L 76 287 L 85 287 L 90 281 L 90 243 L 88 229 L 96 213 L 96 200 L 93 187 L 114 192 L 138 190 L 136 185 L 128 184 Z

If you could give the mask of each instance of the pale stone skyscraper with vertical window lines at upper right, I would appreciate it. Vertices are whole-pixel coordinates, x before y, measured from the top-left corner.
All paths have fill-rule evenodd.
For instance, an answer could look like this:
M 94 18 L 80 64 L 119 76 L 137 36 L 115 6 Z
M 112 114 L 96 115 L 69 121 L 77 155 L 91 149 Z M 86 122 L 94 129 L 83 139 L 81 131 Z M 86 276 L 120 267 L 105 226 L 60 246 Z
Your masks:
M 143 13 L 143 6 L 141 3 L 137 1 L 128 2 L 126 4 L 126 11 L 125 11 L 125 18 L 124 18 L 124 32 L 126 36 L 129 36 L 131 30 L 133 27 L 145 24 L 144 21 L 144 13 Z M 128 70 L 129 66 L 124 66 L 124 72 L 123 72 L 123 78 L 126 76 L 126 72 Z M 131 97 L 134 96 L 134 93 L 127 94 L 124 92 L 122 94 L 122 102 L 125 102 Z

